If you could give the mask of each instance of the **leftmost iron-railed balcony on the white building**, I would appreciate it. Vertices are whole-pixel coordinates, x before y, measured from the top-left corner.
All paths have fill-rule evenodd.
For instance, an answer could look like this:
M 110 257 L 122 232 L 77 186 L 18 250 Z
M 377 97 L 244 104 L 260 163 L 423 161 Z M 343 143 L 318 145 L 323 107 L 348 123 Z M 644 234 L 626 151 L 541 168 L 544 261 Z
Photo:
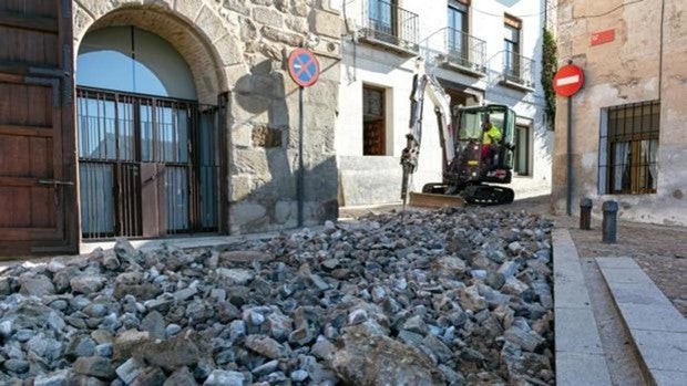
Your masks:
M 362 10 L 362 41 L 402 54 L 418 54 L 417 13 L 388 1 L 367 0 L 367 7 Z

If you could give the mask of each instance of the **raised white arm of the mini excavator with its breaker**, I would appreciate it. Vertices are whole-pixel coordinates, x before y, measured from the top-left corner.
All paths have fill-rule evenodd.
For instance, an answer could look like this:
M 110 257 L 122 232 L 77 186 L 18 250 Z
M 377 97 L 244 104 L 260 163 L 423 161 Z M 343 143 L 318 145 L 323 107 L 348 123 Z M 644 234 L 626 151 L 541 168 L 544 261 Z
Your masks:
M 412 92 L 410 93 L 410 124 L 409 133 L 406 135 L 406 148 L 401 153 L 402 181 L 401 200 L 406 202 L 408 197 L 408 186 L 410 175 L 418 169 L 420 157 L 420 144 L 422 140 L 422 109 L 424 106 L 424 94 L 430 96 L 434 104 L 434 113 L 439 128 L 439 140 L 441 143 L 443 167 L 445 168 L 455 157 L 455 144 L 453 129 L 451 127 L 451 97 L 443 91 L 439 81 L 428 74 L 424 70 L 424 62 L 421 58 L 417 60 L 416 73 L 412 79 Z

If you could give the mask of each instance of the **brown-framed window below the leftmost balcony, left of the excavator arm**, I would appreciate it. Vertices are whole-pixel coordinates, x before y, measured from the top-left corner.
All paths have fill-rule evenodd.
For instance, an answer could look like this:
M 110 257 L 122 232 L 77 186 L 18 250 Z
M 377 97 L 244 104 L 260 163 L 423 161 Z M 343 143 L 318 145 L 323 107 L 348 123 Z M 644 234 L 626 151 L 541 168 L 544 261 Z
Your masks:
M 362 87 L 362 155 L 383 156 L 387 153 L 384 90 Z

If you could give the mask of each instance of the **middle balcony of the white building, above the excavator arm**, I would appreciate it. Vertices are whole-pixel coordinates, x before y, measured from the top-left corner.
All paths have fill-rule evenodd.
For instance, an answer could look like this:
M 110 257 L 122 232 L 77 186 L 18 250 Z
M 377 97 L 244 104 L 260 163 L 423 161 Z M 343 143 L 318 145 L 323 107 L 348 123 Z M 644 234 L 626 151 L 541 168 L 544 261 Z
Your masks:
M 442 49 L 435 56 L 440 65 L 475 77 L 482 77 L 486 74 L 484 67 L 485 41 L 453 28 L 445 28 L 440 32 L 437 35 L 443 39 Z M 433 40 L 435 41 L 435 39 Z M 431 44 L 431 41 L 432 39 L 428 39 L 428 43 Z

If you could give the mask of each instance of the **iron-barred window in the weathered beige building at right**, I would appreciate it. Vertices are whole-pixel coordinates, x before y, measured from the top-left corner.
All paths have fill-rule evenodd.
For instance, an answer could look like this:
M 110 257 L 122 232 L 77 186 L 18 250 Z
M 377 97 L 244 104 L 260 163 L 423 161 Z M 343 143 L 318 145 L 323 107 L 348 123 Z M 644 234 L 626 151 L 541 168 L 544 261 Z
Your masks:
M 602 192 L 655 194 L 660 102 L 643 102 L 605 111 L 599 152 Z M 604 182 L 604 184 L 602 184 Z

